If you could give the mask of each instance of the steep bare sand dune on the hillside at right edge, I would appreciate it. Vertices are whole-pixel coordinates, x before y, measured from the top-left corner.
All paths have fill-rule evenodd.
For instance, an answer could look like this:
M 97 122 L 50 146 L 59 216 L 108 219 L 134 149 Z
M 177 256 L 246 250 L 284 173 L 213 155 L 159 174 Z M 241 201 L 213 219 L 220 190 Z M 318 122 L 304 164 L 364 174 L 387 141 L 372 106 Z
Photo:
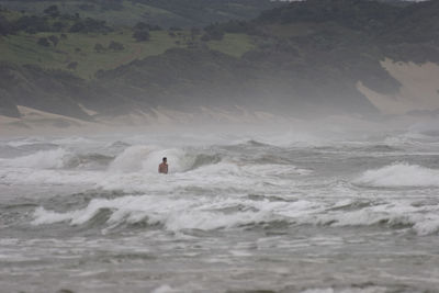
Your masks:
M 414 110 L 439 109 L 439 65 L 426 63 L 394 63 L 385 59 L 381 65 L 401 82 L 395 94 L 382 94 L 367 88 L 361 81 L 357 89 L 382 113 L 404 114 Z

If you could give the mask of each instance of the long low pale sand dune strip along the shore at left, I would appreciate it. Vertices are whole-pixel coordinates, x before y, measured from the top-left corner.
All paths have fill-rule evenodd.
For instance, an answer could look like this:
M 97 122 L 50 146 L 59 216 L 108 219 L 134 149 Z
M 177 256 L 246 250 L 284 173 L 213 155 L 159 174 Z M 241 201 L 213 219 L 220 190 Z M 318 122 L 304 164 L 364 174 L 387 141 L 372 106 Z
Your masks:
M 18 106 L 20 119 L 0 115 L 0 135 L 31 135 L 31 134 L 74 134 L 112 132 L 124 128 L 145 128 L 178 125 L 198 125 L 200 123 L 239 124 L 239 123 L 280 123 L 288 119 L 279 117 L 267 112 L 251 112 L 236 106 L 233 110 L 217 108 L 193 109 L 192 112 L 182 112 L 166 108 L 150 109 L 147 112 L 137 110 L 127 115 L 103 116 L 97 112 L 89 112 L 94 122 L 86 122 L 74 117 L 48 113 L 41 110 Z

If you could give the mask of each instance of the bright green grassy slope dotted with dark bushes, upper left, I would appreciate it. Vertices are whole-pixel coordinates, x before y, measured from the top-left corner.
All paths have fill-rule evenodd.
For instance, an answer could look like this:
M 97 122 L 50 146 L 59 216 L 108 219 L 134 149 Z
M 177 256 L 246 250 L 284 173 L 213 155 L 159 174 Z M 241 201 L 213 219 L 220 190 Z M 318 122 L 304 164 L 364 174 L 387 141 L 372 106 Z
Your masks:
M 111 27 L 92 22 L 90 27 L 80 32 L 71 32 L 76 23 L 86 22 L 88 19 L 44 16 L 32 20 L 32 15 L 29 13 L 23 14 L 10 10 L 1 11 L 0 16 L 9 21 L 11 27 L 21 25 L 22 19 L 31 19 L 30 24 L 23 26 L 25 31 L 11 29 L 12 32 L 0 36 L 0 61 L 64 70 L 85 79 L 93 79 L 100 70 L 114 69 L 135 59 L 159 55 L 176 47 L 203 45 L 237 57 L 254 47 L 251 37 L 245 34 L 228 33 L 221 40 L 203 42 L 200 40 L 203 34 L 202 30 L 166 31 L 156 29 L 147 30 L 149 35 L 147 41 L 138 42 L 133 37 L 135 32 L 133 27 Z M 43 26 L 42 32 L 29 32 L 26 27 L 36 30 L 34 23 Z M 55 30 L 54 23 L 64 23 L 65 25 L 60 30 Z M 47 40 L 48 43 L 38 43 L 42 40 Z M 117 44 L 119 47 L 112 47 L 112 43 L 113 45 Z

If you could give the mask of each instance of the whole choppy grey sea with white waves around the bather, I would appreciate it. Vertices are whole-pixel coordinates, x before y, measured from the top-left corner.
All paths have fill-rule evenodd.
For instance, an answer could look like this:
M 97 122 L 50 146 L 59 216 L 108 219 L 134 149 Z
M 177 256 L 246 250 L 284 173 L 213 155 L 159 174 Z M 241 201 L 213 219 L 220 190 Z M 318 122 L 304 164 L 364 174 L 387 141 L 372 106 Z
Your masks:
M 1 292 L 439 292 L 438 234 L 435 135 L 0 140 Z

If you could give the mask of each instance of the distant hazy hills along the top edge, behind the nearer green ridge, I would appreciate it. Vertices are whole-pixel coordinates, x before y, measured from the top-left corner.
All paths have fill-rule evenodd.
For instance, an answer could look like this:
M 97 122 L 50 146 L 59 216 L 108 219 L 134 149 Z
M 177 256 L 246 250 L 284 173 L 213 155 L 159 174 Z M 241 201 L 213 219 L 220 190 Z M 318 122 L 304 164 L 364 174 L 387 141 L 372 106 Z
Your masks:
M 132 26 L 143 21 L 162 27 L 205 26 L 234 19 L 248 20 L 261 11 L 279 5 L 269 0 L 0 0 L 14 11 L 43 14 L 50 5 L 61 13 Z

